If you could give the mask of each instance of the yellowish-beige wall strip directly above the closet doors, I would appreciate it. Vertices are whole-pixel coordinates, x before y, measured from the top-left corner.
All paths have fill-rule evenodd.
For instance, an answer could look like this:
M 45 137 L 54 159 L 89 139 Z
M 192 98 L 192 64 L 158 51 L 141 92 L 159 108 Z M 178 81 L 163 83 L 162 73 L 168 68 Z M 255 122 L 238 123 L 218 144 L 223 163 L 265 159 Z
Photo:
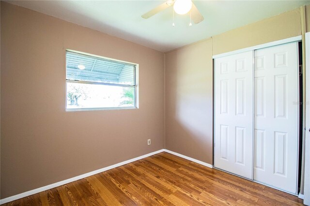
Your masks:
M 300 9 L 213 37 L 213 55 L 301 35 Z

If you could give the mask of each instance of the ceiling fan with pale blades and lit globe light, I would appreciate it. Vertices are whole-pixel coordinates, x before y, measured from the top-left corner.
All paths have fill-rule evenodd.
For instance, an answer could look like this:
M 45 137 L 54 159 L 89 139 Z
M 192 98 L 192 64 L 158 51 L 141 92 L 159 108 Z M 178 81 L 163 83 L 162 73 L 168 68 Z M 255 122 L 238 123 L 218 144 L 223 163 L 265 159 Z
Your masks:
M 203 16 L 198 11 L 197 7 L 191 0 L 168 0 L 165 3 L 160 4 L 151 11 L 141 15 L 142 18 L 150 18 L 151 16 L 171 7 L 173 5 L 173 10 L 179 15 L 185 15 L 189 11 L 191 12 L 191 19 L 195 24 L 202 22 Z

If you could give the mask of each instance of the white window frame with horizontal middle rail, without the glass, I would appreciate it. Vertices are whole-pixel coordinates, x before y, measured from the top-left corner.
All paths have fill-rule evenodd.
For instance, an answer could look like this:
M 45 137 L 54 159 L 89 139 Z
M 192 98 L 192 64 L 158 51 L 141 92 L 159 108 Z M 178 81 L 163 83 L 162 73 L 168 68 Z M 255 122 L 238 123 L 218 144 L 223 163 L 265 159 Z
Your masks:
M 75 51 L 71 49 L 66 49 L 65 54 L 67 52 L 73 52 L 81 55 L 86 55 L 99 59 L 107 59 L 111 61 L 117 61 L 120 63 L 133 65 L 134 66 L 134 84 L 133 85 L 125 85 L 125 84 L 117 84 L 117 83 L 105 83 L 105 82 L 93 82 L 93 81 L 81 81 L 75 79 L 67 79 L 67 67 L 66 67 L 66 92 L 65 92 L 65 111 L 66 112 L 76 112 L 76 111 L 98 111 L 98 110 L 127 110 L 127 109 L 139 109 L 139 64 L 132 63 L 128 61 L 112 59 L 108 57 L 102 57 L 98 55 L 93 55 L 85 52 Z M 128 87 L 134 88 L 134 106 L 128 107 L 95 107 L 95 108 L 67 108 L 67 83 L 77 83 L 77 84 L 97 84 L 97 85 L 108 85 L 108 86 L 116 86 L 116 87 Z

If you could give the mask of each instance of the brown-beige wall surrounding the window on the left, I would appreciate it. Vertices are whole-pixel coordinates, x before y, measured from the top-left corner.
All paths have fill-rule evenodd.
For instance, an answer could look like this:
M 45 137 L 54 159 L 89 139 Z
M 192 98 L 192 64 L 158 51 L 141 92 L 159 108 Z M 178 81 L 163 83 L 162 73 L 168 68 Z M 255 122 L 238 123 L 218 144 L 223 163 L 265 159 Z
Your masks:
M 2 1 L 0 19 L 1 199 L 164 147 L 163 53 Z M 65 112 L 65 49 L 139 63 L 140 108 Z

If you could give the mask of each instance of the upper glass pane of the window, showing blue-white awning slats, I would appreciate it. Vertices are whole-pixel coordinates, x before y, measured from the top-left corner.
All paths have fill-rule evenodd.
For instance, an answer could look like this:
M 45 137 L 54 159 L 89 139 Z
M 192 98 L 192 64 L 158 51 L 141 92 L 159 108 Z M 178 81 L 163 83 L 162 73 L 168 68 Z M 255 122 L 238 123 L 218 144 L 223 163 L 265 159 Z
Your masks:
M 74 52 L 66 53 L 67 79 L 134 85 L 134 65 L 96 58 Z

